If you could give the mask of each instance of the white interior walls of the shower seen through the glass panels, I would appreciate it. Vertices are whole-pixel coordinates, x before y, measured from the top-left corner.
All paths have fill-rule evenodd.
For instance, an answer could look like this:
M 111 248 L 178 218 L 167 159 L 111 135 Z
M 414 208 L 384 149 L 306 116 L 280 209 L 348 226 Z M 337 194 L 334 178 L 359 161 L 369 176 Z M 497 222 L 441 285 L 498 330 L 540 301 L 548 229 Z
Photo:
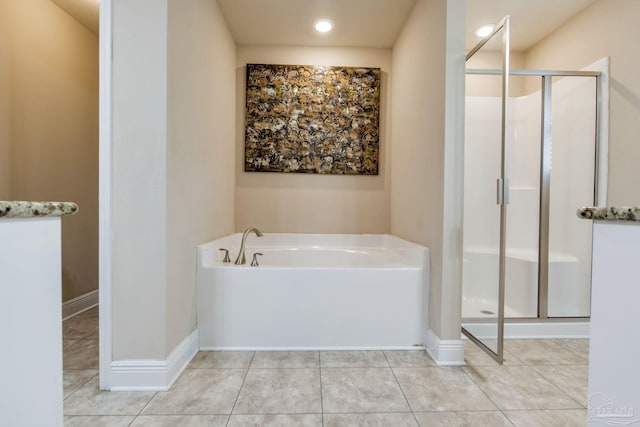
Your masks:
M 591 227 L 576 217 L 575 210 L 593 203 L 595 78 L 556 78 L 552 100 L 549 315 L 588 316 Z M 499 221 L 494 196 L 500 164 L 500 105 L 498 97 L 470 96 L 466 100 L 463 287 L 465 296 L 476 300 L 498 283 L 497 268 L 491 266 L 497 266 L 499 234 L 490 224 Z M 540 90 L 511 98 L 509 111 L 505 315 L 536 317 Z M 478 271 L 485 273 L 479 276 Z M 463 316 L 473 314 L 477 313 L 470 306 L 463 307 Z

